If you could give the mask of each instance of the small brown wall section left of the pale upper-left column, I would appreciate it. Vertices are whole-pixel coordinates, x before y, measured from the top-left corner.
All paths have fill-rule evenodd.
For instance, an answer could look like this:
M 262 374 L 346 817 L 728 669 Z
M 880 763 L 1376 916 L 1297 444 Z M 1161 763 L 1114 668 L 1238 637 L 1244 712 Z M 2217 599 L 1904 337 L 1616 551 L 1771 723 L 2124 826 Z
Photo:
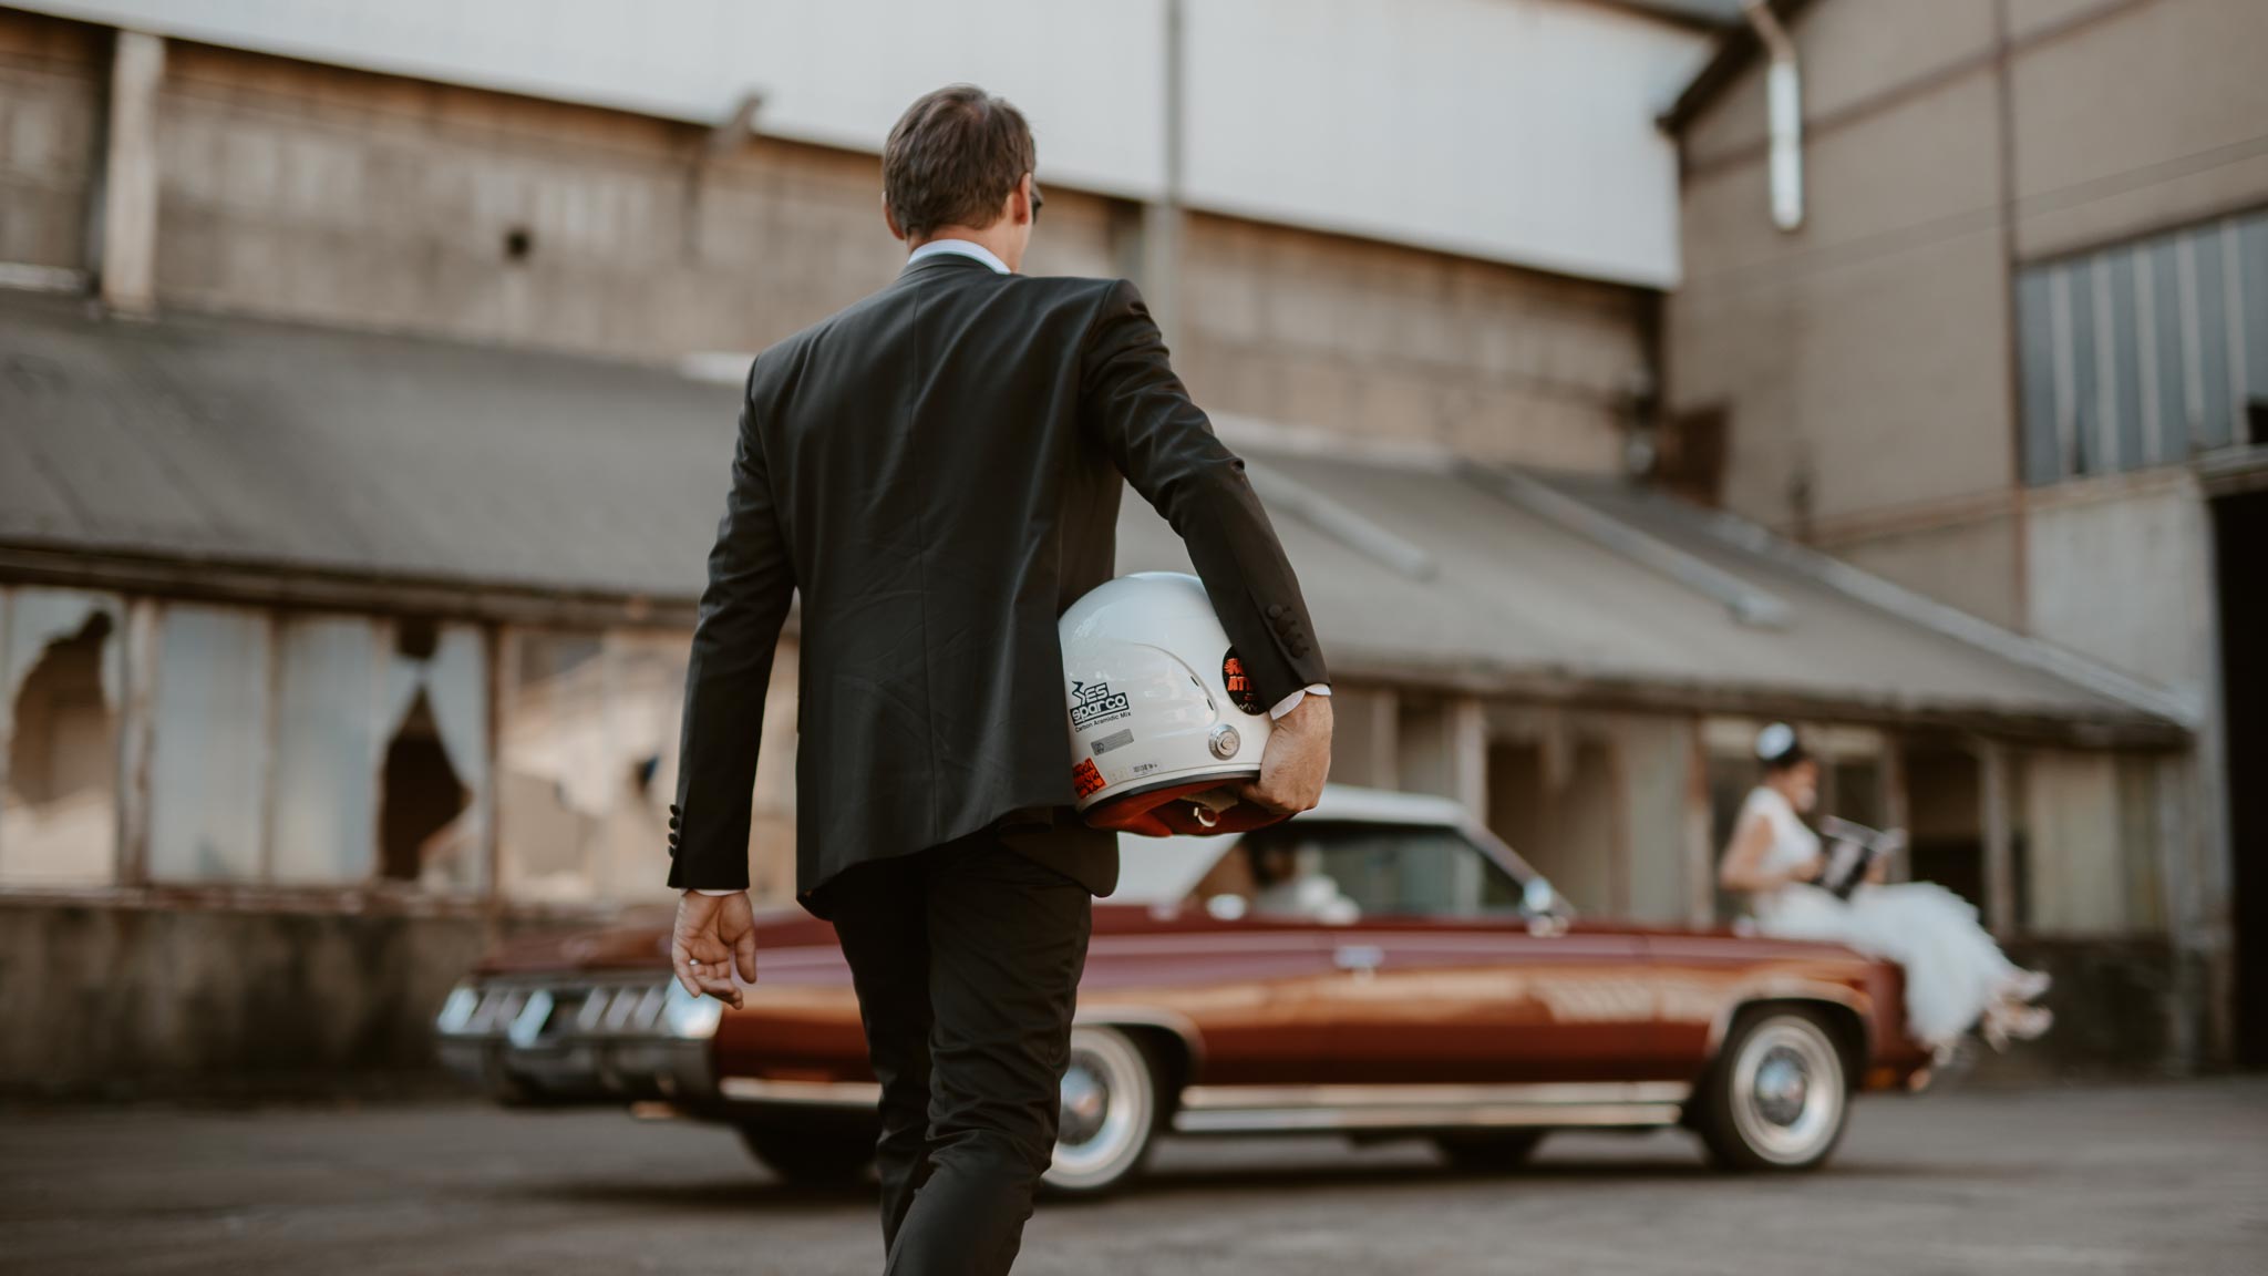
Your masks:
M 0 9 L 0 266 L 84 270 L 109 39 Z

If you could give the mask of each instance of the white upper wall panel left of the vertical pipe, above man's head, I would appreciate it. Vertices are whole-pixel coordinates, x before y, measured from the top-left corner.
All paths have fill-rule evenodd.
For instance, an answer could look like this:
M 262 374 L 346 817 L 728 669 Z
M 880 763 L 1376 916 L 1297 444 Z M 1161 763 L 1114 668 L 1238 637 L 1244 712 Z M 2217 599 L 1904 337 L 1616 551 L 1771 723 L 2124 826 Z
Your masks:
M 953 79 L 1016 102 L 1055 182 L 1163 186 L 1163 0 L 48 0 L 50 14 L 311 61 L 721 123 L 880 152 Z

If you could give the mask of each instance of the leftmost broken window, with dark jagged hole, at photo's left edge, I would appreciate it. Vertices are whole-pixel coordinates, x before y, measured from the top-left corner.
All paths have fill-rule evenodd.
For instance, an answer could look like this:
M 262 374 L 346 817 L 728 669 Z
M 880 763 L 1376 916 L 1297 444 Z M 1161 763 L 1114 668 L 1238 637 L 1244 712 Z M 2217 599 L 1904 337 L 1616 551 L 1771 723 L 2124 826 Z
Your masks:
M 100 885 L 116 874 L 116 597 L 0 590 L 0 881 Z

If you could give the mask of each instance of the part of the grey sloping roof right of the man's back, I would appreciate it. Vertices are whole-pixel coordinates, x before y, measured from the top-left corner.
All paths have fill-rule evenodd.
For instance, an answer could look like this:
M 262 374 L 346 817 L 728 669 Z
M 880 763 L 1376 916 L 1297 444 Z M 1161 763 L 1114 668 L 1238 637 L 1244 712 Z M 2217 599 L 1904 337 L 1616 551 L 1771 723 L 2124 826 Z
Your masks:
M 2193 729 L 2164 690 L 1676 497 L 1454 459 L 1245 456 L 1340 677 L 2089 742 Z M 1311 515 L 1334 506 L 1359 536 Z M 1139 502 L 1118 561 L 1188 570 Z

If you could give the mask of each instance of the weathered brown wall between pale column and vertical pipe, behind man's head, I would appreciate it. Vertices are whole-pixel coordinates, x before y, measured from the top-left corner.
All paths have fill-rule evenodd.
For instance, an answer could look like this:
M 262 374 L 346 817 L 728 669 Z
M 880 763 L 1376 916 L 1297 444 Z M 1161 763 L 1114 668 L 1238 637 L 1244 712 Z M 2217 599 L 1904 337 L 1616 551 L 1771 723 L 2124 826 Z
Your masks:
M 159 295 L 671 359 L 760 350 L 898 270 L 875 159 L 703 145 L 689 125 L 175 45 Z M 1114 261 L 1107 202 L 1048 202 L 1034 270 Z

